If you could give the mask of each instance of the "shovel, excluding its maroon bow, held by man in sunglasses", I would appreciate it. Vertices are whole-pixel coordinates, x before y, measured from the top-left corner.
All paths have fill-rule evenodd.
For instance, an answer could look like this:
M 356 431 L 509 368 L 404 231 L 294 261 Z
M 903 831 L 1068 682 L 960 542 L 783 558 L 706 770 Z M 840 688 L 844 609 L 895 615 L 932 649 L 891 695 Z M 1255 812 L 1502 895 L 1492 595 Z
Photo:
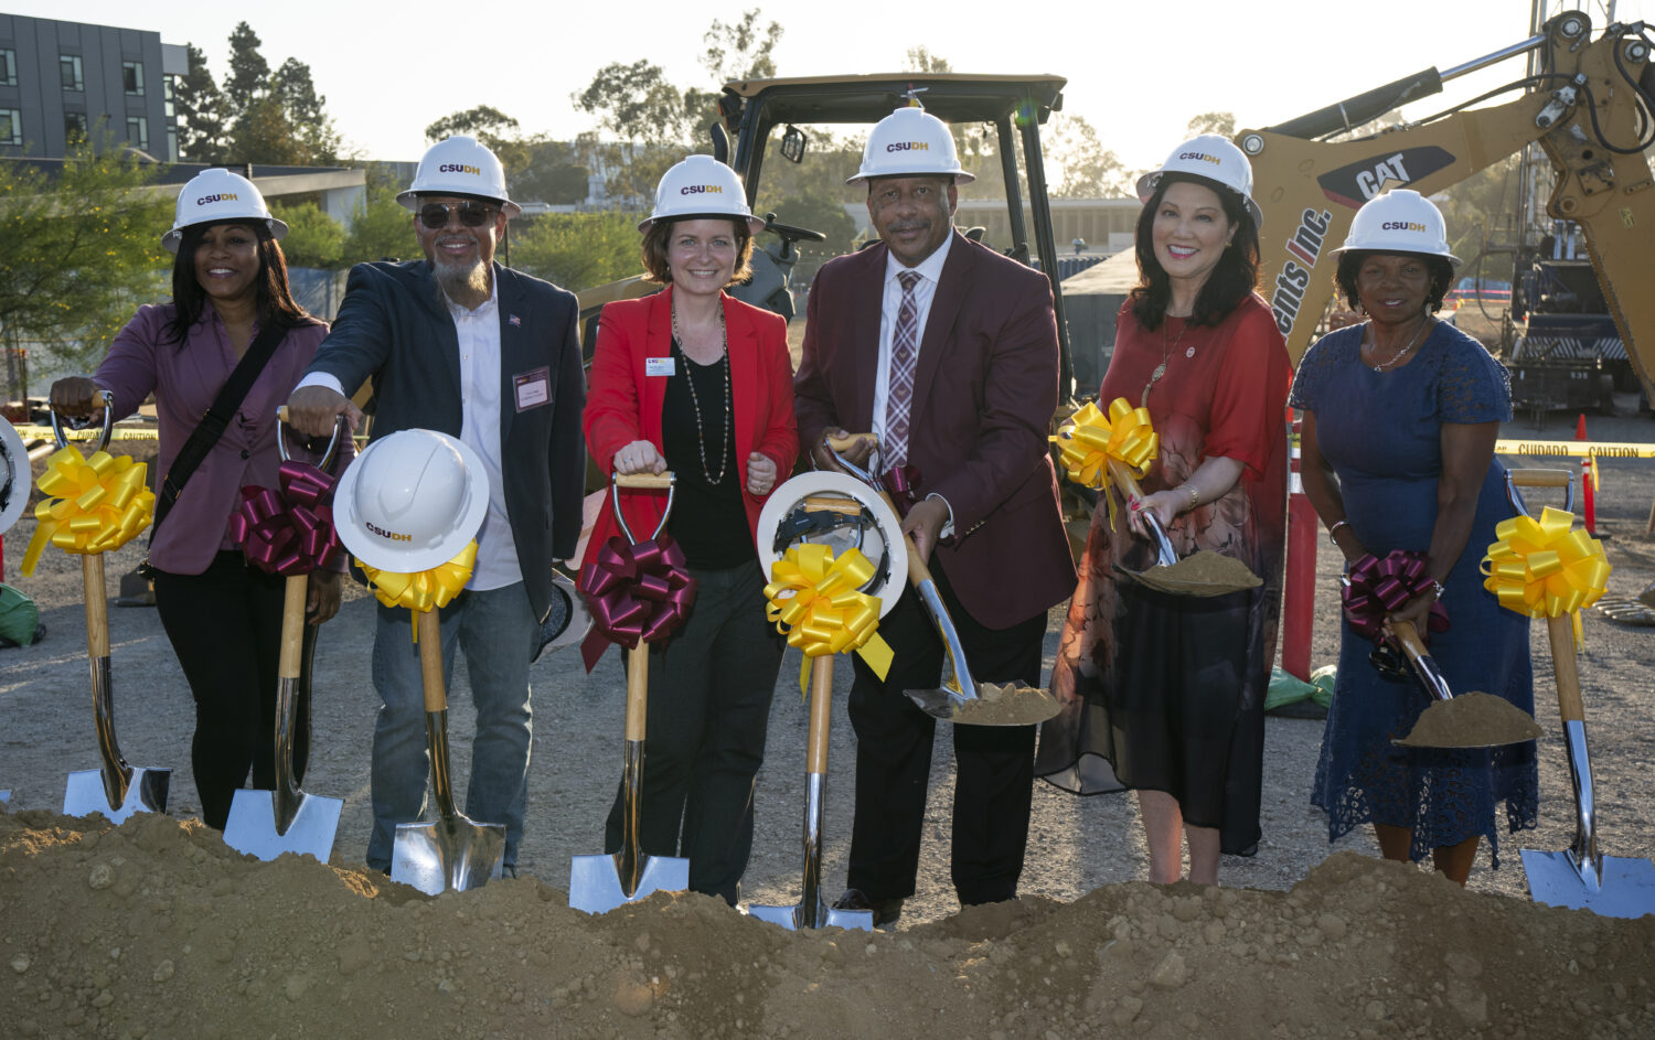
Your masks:
M 286 405 L 278 415 L 286 422 Z M 323 455 L 328 470 L 344 430 L 341 415 L 333 440 Z M 276 435 L 281 461 L 288 461 L 286 438 Z M 290 574 L 281 602 L 281 656 L 276 663 L 276 787 L 275 790 L 238 789 L 223 825 L 223 843 L 260 860 L 275 860 L 285 852 L 316 856 L 326 863 L 333 838 L 339 832 L 344 802 L 300 790 L 293 782 L 293 721 L 300 699 L 300 671 L 305 646 L 305 599 L 309 575 Z

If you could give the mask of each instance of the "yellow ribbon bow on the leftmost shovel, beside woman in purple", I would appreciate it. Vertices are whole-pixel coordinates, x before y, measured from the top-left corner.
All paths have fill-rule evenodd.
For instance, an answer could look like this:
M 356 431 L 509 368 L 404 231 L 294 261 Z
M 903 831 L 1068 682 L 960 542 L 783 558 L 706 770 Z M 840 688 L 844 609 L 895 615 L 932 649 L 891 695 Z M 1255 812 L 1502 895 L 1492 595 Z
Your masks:
M 144 486 L 149 466 L 131 456 L 58 448 L 36 481 L 50 498 L 35 506 L 35 537 L 23 552 L 23 574 L 33 574 L 46 542 L 65 552 L 109 552 L 149 526 L 156 493 Z

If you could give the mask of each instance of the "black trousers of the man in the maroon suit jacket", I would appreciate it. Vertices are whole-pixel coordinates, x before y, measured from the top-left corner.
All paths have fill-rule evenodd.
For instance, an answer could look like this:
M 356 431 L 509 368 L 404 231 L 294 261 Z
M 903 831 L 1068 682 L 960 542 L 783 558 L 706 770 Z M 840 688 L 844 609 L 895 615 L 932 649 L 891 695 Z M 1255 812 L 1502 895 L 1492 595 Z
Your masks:
M 937 590 L 948 608 L 971 675 L 983 683 L 1039 686 L 1046 615 L 1011 628 L 978 625 L 955 599 L 935 557 Z M 905 689 L 942 685 L 943 643 L 914 589 L 880 620 L 895 660 L 884 681 L 852 655 L 851 726 L 856 729 L 856 822 L 847 885 L 869 899 L 914 894 L 925 789 L 937 721 Z M 963 906 L 1018 893 L 1034 790 L 1034 726 L 953 728 L 953 852 L 950 875 Z

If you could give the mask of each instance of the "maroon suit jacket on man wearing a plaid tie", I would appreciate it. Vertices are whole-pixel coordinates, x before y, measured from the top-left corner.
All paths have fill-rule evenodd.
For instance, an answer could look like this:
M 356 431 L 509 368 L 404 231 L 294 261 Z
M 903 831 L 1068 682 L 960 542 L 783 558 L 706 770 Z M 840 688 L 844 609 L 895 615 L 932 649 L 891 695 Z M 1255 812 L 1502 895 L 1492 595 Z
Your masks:
M 793 379 L 799 443 L 872 430 L 885 246 L 816 274 Z M 1046 435 L 1058 408 L 1058 322 L 1039 271 L 970 241 L 948 246 L 914 374 L 909 461 L 953 509 L 937 547 L 960 602 L 1010 628 L 1074 594 Z

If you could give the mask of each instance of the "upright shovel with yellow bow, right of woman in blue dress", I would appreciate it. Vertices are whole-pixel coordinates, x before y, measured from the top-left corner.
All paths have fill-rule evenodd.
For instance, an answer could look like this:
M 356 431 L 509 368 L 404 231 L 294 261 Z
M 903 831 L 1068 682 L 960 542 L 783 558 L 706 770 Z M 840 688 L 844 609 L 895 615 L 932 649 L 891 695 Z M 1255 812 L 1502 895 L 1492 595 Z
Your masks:
M 1574 842 L 1561 852 L 1523 850 L 1523 870 L 1536 903 L 1589 909 L 1605 918 L 1642 918 L 1655 913 L 1655 863 L 1610 856 L 1597 843 L 1597 787 L 1585 739 L 1585 699 L 1576 650 L 1579 612 L 1607 587 L 1609 561 L 1602 542 L 1574 529 L 1574 514 L 1544 509 L 1536 522 L 1519 486 L 1571 488 L 1567 470 L 1513 470 L 1506 478 L 1519 518 L 1496 527 L 1499 542 L 1483 561 L 1488 587 L 1501 603 L 1546 618 L 1557 709 L 1562 718 L 1569 782 L 1574 789 Z

